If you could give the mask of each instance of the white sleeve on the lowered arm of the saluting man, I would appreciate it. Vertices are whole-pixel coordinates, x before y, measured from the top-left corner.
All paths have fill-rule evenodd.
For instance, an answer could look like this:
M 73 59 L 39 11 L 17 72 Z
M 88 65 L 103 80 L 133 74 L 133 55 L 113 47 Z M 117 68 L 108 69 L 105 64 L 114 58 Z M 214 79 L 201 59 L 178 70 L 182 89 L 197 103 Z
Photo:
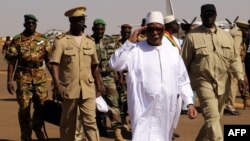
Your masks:
M 194 104 L 193 90 L 190 85 L 190 80 L 186 67 L 181 57 L 179 59 L 178 89 L 185 106 L 187 106 L 188 104 Z

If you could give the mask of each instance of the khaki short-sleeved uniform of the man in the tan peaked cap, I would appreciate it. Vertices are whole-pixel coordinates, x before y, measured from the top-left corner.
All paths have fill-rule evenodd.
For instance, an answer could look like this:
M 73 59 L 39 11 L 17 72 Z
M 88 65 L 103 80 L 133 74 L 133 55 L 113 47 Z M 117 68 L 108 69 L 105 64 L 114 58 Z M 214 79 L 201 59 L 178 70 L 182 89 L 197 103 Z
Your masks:
M 84 132 L 88 140 L 99 141 L 96 126 L 96 91 L 91 66 L 98 64 L 95 43 L 82 35 L 79 46 L 71 33 L 55 41 L 50 63 L 59 64 L 59 78 L 64 86 L 60 136 L 62 141 L 75 138 L 77 108 L 80 109 Z

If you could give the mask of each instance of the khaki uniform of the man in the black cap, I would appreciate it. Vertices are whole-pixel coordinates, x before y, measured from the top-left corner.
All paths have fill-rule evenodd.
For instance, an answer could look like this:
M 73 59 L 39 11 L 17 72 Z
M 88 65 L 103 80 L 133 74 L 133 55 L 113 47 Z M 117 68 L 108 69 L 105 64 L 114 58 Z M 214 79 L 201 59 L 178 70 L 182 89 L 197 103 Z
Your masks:
M 228 77 L 230 74 L 237 80 L 244 77 L 233 38 L 220 28 L 207 29 L 201 25 L 187 35 L 182 49 L 191 86 L 197 92 L 205 119 L 196 140 L 223 141 L 220 117 L 230 89 Z

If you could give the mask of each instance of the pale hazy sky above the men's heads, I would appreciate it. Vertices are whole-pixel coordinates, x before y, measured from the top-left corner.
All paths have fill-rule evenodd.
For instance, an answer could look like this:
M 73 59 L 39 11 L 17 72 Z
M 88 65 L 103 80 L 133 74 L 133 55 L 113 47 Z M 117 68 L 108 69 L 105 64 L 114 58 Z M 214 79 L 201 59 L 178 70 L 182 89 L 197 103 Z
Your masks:
M 191 21 L 194 17 L 200 20 L 200 7 L 213 3 L 217 8 L 217 20 L 226 17 L 233 21 L 250 19 L 249 0 L 172 0 L 174 14 L 179 19 Z M 38 18 L 37 31 L 44 33 L 49 29 L 69 29 L 68 18 L 64 12 L 73 7 L 87 7 L 85 30 L 92 34 L 92 23 L 96 18 L 103 18 L 107 34 L 119 34 L 121 24 L 140 24 L 149 11 L 158 10 L 166 16 L 165 0 L 1 0 L 0 36 L 14 36 L 23 31 L 23 15 L 34 14 Z M 136 28 L 136 27 L 135 27 Z

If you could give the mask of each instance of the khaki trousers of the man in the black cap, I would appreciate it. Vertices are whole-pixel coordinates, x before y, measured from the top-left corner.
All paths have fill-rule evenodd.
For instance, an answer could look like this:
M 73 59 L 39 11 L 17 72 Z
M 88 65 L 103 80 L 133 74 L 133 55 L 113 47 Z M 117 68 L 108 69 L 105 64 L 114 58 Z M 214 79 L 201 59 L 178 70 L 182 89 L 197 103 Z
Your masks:
M 205 123 L 195 140 L 223 141 L 220 118 L 224 111 L 225 95 L 218 96 L 213 89 L 207 87 L 201 87 L 196 92 L 200 101 Z

